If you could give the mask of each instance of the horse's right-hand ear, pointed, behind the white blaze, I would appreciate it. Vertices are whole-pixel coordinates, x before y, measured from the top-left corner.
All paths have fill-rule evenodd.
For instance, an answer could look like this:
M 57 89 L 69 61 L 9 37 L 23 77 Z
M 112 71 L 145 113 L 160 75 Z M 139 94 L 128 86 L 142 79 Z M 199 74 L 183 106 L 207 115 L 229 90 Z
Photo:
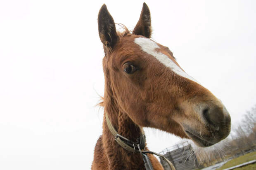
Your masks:
M 140 13 L 140 19 L 137 22 L 133 34 L 135 35 L 143 35 L 144 37 L 151 37 L 151 17 L 150 11 L 147 4 L 144 2 L 142 11 Z

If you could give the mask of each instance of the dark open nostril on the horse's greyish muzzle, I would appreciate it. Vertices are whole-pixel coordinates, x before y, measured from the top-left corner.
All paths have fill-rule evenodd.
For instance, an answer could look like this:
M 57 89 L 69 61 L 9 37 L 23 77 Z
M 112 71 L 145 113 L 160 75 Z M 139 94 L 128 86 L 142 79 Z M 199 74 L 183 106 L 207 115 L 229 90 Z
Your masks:
M 219 130 L 218 114 L 211 112 L 209 108 L 203 110 L 204 119 L 212 130 Z

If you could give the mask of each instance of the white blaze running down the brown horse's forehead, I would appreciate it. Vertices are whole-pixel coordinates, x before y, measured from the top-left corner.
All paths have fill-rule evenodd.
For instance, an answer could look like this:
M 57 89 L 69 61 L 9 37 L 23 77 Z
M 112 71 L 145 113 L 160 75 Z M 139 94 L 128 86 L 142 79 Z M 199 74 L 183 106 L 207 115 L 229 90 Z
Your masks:
M 192 80 L 193 82 L 197 82 L 193 77 L 188 75 L 186 72 L 184 72 L 178 65 L 176 65 L 173 60 L 171 60 L 168 56 L 161 53 L 160 51 L 156 51 L 155 49 L 160 47 L 156 44 L 156 42 L 150 40 L 149 38 L 135 38 L 134 42 L 140 46 L 140 48 L 146 52 L 147 54 L 150 54 L 154 56 L 160 63 L 164 64 L 166 67 L 171 68 L 173 72 L 175 72 L 177 75 L 180 75 L 182 77 L 185 77 L 187 79 Z M 199 82 L 197 82 L 199 83 Z

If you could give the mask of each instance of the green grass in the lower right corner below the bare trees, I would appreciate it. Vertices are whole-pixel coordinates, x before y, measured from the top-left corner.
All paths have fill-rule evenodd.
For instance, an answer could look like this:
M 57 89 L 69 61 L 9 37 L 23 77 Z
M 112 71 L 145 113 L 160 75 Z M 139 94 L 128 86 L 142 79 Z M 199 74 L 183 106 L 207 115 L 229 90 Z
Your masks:
M 245 154 L 243 156 L 239 156 L 238 158 L 234 158 L 234 159 L 228 161 L 222 167 L 220 167 L 216 170 L 223 170 L 223 169 L 226 169 L 226 168 L 230 168 L 232 166 L 239 165 L 241 163 L 245 163 L 245 162 L 248 162 L 248 161 L 252 161 L 254 159 L 256 159 L 256 151 L 251 152 L 249 154 Z M 255 167 L 256 167 L 256 164 L 251 164 L 251 165 L 244 166 L 242 168 L 236 168 L 235 170 L 252 170 L 252 169 L 255 169 Z M 250 168 L 252 168 L 252 169 L 250 169 Z

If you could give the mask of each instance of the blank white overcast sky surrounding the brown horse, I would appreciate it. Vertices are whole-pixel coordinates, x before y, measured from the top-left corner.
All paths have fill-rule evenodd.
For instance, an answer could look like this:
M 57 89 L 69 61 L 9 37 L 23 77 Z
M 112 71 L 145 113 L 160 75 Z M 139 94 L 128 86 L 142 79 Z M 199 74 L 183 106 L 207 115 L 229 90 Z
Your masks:
M 102 133 L 103 3 L 133 29 L 143 1 L 0 1 L 0 169 L 87 170 Z M 152 38 L 220 98 L 232 123 L 256 104 L 256 1 L 146 1 Z M 179 141 L 146 130 L 149 149 Z

